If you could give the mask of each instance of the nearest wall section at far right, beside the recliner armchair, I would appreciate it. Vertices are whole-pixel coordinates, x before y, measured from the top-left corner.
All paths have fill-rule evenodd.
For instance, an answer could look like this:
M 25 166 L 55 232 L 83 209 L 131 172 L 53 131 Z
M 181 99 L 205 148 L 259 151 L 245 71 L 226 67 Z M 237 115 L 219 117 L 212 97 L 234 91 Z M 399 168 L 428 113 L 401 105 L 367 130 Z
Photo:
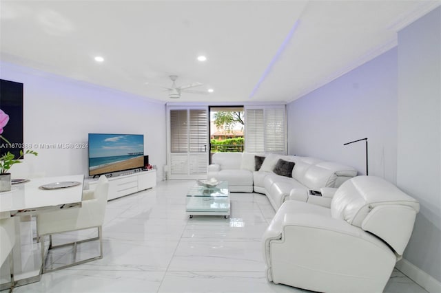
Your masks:
M 441 281 L 441 8 L 398 33 L 397 184 L 420 201 L 404 257 Z

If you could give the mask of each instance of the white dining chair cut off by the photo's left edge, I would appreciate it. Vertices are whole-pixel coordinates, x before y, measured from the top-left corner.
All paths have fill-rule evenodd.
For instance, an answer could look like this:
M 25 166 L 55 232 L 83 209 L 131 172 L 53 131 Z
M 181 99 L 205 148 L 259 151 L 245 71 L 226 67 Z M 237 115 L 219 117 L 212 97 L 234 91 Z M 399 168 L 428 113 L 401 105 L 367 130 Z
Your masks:
M 12 249 L 15 245 L 15 225 L 13 218 L 0 219 L 0 267 L 9 257 L 10 286 L 9 292 L 14 288 L 14 256 Z M 2 288 L 3 289 L 3 288 Z

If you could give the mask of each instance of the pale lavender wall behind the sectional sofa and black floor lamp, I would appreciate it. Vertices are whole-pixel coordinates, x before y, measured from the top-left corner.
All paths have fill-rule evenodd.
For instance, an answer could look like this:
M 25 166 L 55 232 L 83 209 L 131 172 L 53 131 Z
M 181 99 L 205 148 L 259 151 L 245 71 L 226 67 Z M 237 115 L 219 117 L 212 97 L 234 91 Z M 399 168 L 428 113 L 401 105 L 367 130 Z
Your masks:
M 289 154 L 355 167 L 396 182 L 397 48 L 288 105 Z

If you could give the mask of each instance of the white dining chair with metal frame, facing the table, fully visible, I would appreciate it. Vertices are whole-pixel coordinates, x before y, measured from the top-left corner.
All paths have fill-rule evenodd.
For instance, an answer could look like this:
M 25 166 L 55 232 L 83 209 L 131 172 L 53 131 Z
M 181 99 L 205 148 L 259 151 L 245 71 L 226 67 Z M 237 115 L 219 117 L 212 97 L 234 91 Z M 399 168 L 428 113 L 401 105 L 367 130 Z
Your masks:
M 107 194 L 109 192 L 109 182 L 105 175 L 101 175 L 96 184 L 94 191 L 83 191 L 83 198 L 81 200 L 80 208 L 70 208 L 67 210 L 57 210 L 54 212 L 40 213 L 37 216 L 37 235 L 39 242 L 41 243 L 41 272 L 51 272 L 53 270 L 60 270 L 62 268 L 68 268 L 72 265 L 79 265 L 80 263 L 86 263 L 88 261 L 94 261 L 96 259 L 103 258 L 103 221 L 105 215 L 105 208 L 107 205 Z M 74 241 L 71 243 L 64 243 L 57 246 L 52 245 L 52 235 L 70 232 L 76 230 L 85 230 L 90 228 L 98 229 L 98 236 L 81 241 Z M 74 246 L 74 252 L 76 256 L 76 246 L 78 243 L 86 241 L 99 240 L 98 257 L 91 257 L 81 261 L 74 261 L 67 265 L 61 265 L 57 268 L 45 268 L 45 236 L 49 235 L 49 250 L 54 248 L 61 248 L 65 246 Z

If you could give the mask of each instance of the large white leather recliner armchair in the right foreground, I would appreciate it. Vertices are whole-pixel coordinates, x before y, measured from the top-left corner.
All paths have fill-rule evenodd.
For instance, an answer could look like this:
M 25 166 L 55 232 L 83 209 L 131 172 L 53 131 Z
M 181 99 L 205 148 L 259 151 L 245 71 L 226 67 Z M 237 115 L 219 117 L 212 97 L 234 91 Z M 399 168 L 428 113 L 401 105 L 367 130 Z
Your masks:
M 316 292 L 382 292 L 419 208 L 374 176 L 344 182 L 331 208 L 287 201 L 263 235 L 267 279 Z

